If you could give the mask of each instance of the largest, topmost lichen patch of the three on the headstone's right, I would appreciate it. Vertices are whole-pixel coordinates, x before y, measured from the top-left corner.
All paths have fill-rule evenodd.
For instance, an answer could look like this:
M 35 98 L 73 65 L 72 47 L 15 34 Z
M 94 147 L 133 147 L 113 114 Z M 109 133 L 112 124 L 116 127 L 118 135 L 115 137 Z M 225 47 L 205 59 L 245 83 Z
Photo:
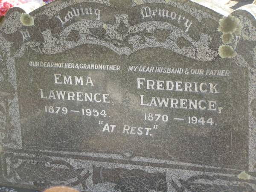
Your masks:
M 223 33 L 233 33 L 239 27 L 240 20 L 232 15 L 219 20 L 218 30 Z

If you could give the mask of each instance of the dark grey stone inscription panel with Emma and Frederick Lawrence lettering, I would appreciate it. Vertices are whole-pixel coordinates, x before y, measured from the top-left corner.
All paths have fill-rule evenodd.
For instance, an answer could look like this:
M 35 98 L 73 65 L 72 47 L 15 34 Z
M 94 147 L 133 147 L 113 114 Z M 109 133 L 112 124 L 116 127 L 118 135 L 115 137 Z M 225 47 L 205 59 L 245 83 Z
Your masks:
M 160 49 L 122 57 L 93 46 L 29 52 L 17 63 L 24 148 L 247 166 L 247 145 L 239 143 L 248 127 L 242 67 Z

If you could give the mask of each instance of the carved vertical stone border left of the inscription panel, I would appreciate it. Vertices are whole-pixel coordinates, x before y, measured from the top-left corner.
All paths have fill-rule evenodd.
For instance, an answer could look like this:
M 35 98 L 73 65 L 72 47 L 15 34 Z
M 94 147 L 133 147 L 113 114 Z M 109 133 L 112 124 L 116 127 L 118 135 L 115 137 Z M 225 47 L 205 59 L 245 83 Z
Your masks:
M 22 148 L 15 64 L 10 56 L 11 46 L 12 44 L 0 34 L 0 143 L 9 148 Z

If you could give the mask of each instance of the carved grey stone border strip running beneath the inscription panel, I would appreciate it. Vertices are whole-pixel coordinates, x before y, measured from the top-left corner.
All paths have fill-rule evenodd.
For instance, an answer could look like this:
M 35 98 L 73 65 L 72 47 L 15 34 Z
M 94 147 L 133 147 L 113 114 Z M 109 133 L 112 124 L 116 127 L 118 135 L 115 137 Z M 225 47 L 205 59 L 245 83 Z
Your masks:
M 234 174 L 165 169 L 120 163 L 104 163 L 64 157 L 36 157 L 31 154 L 3 155 L 5 180 L 12 183 L 72 186 L 79 191 L 248 191 L 256 180 L 240 180 Z M 27 173 L 30 175 L 27 175 Z M 239 189 L 239 190 L 238 190 Z

